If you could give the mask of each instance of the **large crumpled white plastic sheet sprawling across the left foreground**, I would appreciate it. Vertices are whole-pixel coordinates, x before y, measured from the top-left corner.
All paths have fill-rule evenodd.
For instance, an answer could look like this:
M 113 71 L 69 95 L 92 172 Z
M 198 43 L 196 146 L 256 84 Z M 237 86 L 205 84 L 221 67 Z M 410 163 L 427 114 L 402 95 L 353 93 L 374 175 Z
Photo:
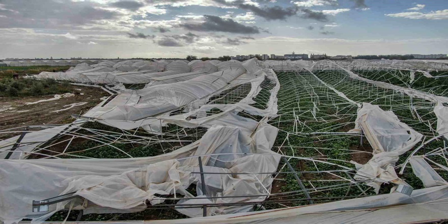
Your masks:
M 55 211 L 68 206 L 68 202 L 51 205 L 49 212 L 33 213 L 31 209 L 26 209 L 31 206 L 32 201 L 51 198 L 56 196 L 56 194 L 62 195 L 73 191 L 76 191 L 77 195 L 82 195 L 89 202 L 96 204 L 95 206 L 88 203 L 87 205 L 85 204 L 87 207 L 79 207 L 83 203 L 82 200 L 78 201 L 77 203 L 80 204 L 75 204 L 74 209 L 83 209 L 85 214 L 89 214 L 90 206 L 93 206 L 94 211 L 98 211 L 98 205 L 112 208 L 110 211 L 114 212 L 117 212 L 117 209 L 122 210 L 121 212 L 135 211 L 136 207 L 137 210 L 145 209 L 146 206 L 142 206 L 144 205 L 144 201 L 146 199 L 153 199 L 154 193 L 170 194 L 176 190 L 176 192 L 184 193 L 188 196 L 185 189 L 193 181 L 191 179 L 192 176 L 188 176 L 188 169 L 193 169 L 193 166 L 197 166 L 198 159 L 182 159 L 180 163 L 174 159 L 192 155 L 212 154 L 214 152 L 240 152 L 239 150 L 242 149 L 242 146 L 253 153 L 265 153 L 269 151 L 270 154 L 274 155 L 275 153 L 271 152 L 268 147 L 272 146 L 276 131 L 277 129 L 275 127 L 262 124 L 253 137 L 249 137 L 235 127 L 215 126 L 210 128 L 197 143 L 185 146 L 172 153 L 146 158 L 42 159 L 21 160 L 20 162 L 18 160 L 4 160 L 2 161 L 2 166 L 0 166 L 0 175 L 3 177 L 0 180 L 0 184 L 3 187 L 8 186 L 10 190 L 6 194 L 2 193 L 0 202 L 2 205 L 8 204 L 10 207 L 2 209 L 0 211 L 0 217 L 6 223 L 17 221 L 21 218 L 34 218 L 35 221 L 43 221 Z M 232 144 L 239 142 L 242 145 L 237 146 Z M 263 162 L 264 165 L 259 164 L 257 166 L 254 164 L 261 163 L 260 158 L 258 158 L 259 161 L 251 160 L 252 158 L 256 158 L 256 156 L 204 156 L 203 161 L 206 166 L 219 164 L 221 166 L 230 166 L 230 170 L 234 172 L 252 172 L 257 167 L 259 169 L 272 170 L 269 172 L 276 171 L 279 157 L 265 155 L 262 159 L 265 161 L 269 160 L 269 163 L 265 164 Z M 209 158 L 207 159 L 206 157 Z M 216 163 L 217 161 L 219 163 Z M 241 162 L 239 163 L 238 161 Z M 276 163 L 273 161 L 276 161 Z M 269 167 L 273 167 L 273 169 Z M 32 173 L 29 172 L 30 169 L 33 169 Z M 16 175 L 17 172 L 21 174 Z M 12 173 L 14 175 L 9 175 Z M 267 179 L 263 178 L 263 175 L 258 176 L 258 179 L 266 185 L 266 188 L 269 188 L 272 182 L 272 176 L 264 176 Z M 257 185 L 255 179 L 255 176 L 251 179 L 238 179 L 236 177 L 236 179 L 232 180 L 236 181 L 234 185 L 227 183 L 227 186 L 232 189 L 238 189 L 238 186 L 255 184 L 253 185 L 254 188 L 251 188 L 254 191 L 246 193 L 258 195 L 261 193 L 259 192 L 260 190 L 264 191 L 264 187 L 261 184 Z M 34 184 L 26 184 L 29 182 L 33 182 Z M 48 185 L 48 182 L 57 184 Z M 223 191 L 231 195 L 232 190 L 229 190 L 226 187 L 223 189 Z M 207 195 L 209 193 L 212 194 L 213 192 L 207 192 Z M 192 195 L 189 195 L 189 197 L 192 197 Z M 160 202 L 162 201 L 152 201 L 152 203 Z M 233 209 L 233 211 L 238 211 L 238 206 Z M 107 212 L 107 208 L 101 209 L 101 211 Z

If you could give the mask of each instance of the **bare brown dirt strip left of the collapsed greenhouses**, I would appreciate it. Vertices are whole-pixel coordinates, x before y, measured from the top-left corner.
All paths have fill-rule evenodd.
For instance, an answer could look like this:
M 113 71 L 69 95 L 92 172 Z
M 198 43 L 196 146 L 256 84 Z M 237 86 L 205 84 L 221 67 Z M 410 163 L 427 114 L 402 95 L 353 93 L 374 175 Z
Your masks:
M 109 96 L 108 93 L 100 88 L 77 86 L 75 89 L 81 89 L 80 93 L 73 97 L 61 98 L 53 101 L 46 101 L 37 104 L 26 105 L 26 102 L 36 102 L 43 99 L 53 98 L 53 95 L 39 97 L 23 97 L 23 98 L 0 98 L 0 130 L 21 127 L 26 125 L 42 125 L 42 124 L 66 124 L 74 121 L 72 114 L 86 113 L 90 108 L 101 102 L 100 98 Z M 66 105 L 72 103 L 87 102 L 86 104 L 74 106 L 73 108 L 52 112 L 55 110 L 65 109 Z

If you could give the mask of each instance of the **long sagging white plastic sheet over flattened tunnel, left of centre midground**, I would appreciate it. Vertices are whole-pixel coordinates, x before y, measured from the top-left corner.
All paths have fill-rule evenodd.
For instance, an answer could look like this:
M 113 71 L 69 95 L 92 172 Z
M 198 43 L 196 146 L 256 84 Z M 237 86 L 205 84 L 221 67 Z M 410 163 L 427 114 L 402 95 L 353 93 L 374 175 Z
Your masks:
M 255 62 L 251 60 L 249 63 Z M 229 82 L 238 78 L 246 71 L 241 64 L 234 62 L 220 63 L 218 64 L 218 68 L 224 70 L 183 82 L 139 90 L 137 93 L 141 98 L 137 104 L 110 108 L 109 111 L 101 114 L 97 118 L 104 120 L 136 121 L 145 117 L 158 115 L 171 109 L 187 105 L 194 100 L 207 97 L 225 87 L 230 87 L 232 85 L 229 85 Z M 247 74 L 241 82 L 250 81 L 251 78 L 254 77 L 251 74 Z M 238 82 L 234 85 L 239 84 Z

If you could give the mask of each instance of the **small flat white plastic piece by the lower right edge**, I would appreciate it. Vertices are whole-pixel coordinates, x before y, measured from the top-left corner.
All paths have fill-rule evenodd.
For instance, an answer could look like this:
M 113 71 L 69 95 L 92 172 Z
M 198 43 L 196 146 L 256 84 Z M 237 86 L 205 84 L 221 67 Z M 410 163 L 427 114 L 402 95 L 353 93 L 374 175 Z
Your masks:
M 428 162 L 425 161 L 425 156 L 412 156 L 409 158 L 409 163 L 411 164 L 412 172 L 423 182 L 425 187 L 448 185 Z

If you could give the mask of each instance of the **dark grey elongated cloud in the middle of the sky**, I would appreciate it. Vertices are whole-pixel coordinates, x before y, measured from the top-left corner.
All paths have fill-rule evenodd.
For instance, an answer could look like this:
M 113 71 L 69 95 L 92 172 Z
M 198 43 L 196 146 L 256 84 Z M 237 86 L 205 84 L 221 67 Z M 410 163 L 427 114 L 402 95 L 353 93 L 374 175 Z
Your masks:
M 233 19 L 222 19 L 218 16 L 204 15 L 205 21 L 200 23 L 186 22 L 180 24 L 186 30 L 205 32 L 227 32 L 237 34 L 259 34 L 257 26 L 246 26 L 235 22 Z

